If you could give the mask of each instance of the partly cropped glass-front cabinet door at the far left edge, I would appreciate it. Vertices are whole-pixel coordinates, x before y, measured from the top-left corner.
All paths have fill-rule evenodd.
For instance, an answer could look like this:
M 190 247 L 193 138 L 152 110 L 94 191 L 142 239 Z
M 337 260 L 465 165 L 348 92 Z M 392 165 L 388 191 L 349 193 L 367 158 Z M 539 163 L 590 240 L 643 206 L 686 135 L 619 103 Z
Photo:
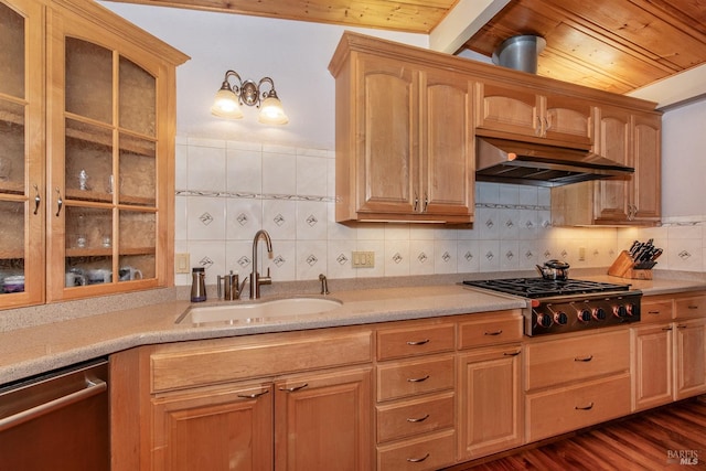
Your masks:
M 44 299 L 41 13 L 0 2 L 0 308 Z

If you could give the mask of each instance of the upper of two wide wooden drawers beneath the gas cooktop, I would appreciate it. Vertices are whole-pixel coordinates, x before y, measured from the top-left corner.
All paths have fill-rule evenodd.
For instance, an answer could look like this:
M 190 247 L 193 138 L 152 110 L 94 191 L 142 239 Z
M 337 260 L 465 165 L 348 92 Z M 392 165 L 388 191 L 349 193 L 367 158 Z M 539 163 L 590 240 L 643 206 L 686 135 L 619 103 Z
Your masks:
M 630 331 L 531 343 L 525 352 L 525 389 L 538 389 L 629 370 Z

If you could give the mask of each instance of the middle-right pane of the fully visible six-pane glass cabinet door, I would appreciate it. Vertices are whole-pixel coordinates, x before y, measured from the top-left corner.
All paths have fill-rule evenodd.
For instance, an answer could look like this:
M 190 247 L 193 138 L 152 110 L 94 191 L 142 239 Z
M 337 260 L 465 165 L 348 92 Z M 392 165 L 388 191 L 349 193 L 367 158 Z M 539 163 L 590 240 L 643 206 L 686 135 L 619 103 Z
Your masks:
M 154 207 L 157 148 L 153 141 L 120 135 L 119 202 Z

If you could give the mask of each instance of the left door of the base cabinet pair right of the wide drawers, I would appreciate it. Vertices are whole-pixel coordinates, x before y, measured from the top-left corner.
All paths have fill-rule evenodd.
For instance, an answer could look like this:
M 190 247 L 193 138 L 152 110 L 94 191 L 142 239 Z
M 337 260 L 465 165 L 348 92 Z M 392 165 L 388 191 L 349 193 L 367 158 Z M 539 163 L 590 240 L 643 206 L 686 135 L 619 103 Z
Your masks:
M 673 400 L 673 327 L 646 325 L 633 329 L 633 410 L 660 406 Z

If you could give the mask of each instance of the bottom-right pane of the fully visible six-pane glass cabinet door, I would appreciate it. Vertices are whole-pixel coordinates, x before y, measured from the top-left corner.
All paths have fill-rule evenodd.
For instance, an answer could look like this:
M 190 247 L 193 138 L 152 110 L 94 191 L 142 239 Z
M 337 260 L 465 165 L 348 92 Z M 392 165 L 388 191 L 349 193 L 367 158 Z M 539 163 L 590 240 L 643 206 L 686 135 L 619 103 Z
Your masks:
M 120 281 L 157 276 L 157 216 L 154 213 L 120 211 Z M 139 270 L 139 275 L 135 271 Z

